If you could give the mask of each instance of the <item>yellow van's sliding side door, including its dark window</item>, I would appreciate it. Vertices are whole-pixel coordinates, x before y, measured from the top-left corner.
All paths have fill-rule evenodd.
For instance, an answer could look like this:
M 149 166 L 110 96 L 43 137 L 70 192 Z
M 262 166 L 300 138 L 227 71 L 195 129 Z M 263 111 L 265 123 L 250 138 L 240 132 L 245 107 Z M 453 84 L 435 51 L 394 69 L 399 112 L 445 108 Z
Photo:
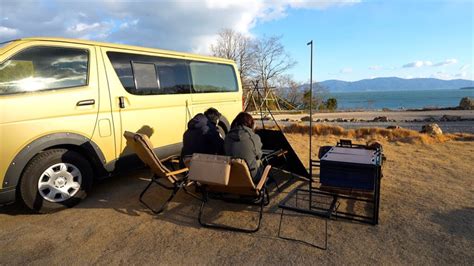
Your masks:
M 103 49 L 120 156 L 132 153 L 123 133 L 147 135 L 160 157 L 178 154 L 190 102 L 186 62 L 170 56 Z

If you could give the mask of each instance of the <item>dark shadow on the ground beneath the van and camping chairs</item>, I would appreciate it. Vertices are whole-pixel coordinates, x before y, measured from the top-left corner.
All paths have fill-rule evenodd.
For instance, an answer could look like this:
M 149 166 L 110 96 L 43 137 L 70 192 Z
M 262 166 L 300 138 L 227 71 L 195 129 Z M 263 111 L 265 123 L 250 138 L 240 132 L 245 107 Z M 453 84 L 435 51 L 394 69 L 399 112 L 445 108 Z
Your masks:
M 281 191 L 288 190 L 295 184 L 295 182 L 300 180 L 297 177 L 293 177 L 288 173 L 279 170 L 272 170 L 272 176 L 279 184 Z M 113 209 L 118 213 L 128 216 L 139 216 L 143 213 L 153 215 L 150 210 L 138 201 L 141 191 L 148 184 L 150 178 L 150 171 L 141 169 L 97 181 L 89 193 L 88 198 L 83 200 L 74 208 Z M 271 197 L 271 204 L 267 206 L 265 211 L 274 212 L 278 209 L 276 196 L 279 192 L 277 191 L 274 182 L 268 184 L 268 188 Z M 189 190 L 195 192 L 194 187 L 191 187 Z M 158 207 L 168 198 L 169 193 L 169 191 L 153 185 L 145 194 L 144 199 L 149 202 L 150 205 Z M 198 199 L 193 198 L 181 190 L 170 202 L 164 213 L 154 216 L 156 219 L 165 220 L 177 225 L 198 227 L 197 215 L 200 203 L 201 202 Z M 207 219 L 215 220 L 222 216 L 222 210 L 225 212 L 247 211 L 257 213 L 258 209 L 259 207 L 257 205 L 229 204 L 221 200 L 211 200 L 209 206 L 206 207 L 205 214 Z M 18 201 L 14 204 L 0 207 L 0 214 L 17 216 L 32 215 L 34 212 L 29 210 L 22 202 Z

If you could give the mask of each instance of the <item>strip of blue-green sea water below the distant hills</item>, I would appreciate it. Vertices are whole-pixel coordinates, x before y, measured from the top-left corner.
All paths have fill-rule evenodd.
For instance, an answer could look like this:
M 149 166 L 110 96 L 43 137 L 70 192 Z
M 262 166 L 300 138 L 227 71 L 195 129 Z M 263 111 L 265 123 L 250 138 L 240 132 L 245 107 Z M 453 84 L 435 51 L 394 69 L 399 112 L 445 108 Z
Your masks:
M 421 109 L 456 107 L 463 97 L 474 98 L 474 90 L 332 92 L 338 110 Z

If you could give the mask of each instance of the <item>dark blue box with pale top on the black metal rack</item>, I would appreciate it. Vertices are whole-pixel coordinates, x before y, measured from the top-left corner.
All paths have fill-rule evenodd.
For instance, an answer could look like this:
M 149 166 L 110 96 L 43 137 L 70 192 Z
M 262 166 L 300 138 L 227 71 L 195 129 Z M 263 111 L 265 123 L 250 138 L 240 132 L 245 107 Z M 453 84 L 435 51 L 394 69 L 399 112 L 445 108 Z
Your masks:
M 324 186 L 372 191 L 380 177 L 381 159 L 376 150 L 332 147 L 321 158 L 320 182 Z

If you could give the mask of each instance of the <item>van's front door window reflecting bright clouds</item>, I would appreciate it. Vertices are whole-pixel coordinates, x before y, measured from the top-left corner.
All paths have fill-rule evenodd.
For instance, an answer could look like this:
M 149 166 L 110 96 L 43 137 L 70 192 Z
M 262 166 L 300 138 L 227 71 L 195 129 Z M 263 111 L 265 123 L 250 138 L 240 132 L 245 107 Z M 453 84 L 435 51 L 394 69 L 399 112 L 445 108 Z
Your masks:
M 0 95 L 87 85 L 84 49 L 38 46 L 0 64 Z

